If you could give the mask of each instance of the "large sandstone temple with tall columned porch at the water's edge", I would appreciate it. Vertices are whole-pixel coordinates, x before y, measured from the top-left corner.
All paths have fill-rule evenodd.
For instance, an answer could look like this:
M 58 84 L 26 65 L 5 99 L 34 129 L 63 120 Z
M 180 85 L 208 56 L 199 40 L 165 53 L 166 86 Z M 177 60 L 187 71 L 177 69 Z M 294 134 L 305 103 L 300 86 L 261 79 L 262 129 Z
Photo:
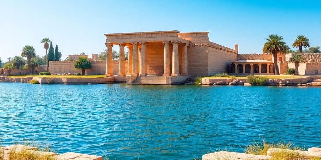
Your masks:
M 144 83 L 142 81 L 147 81 L 148 78 L 178 84 L 184 83 L 188 76 L 229 72 L 230 63 L 238 55 L 238 44 L 230 49 L 210 42 L 208 34 L 209 32 L 179 33 L 177 30 L 105 34 L 105 75 L 115 76 L 115 81 L 126 81 L 129 84 Z M 113 45 L 119 46 L 117 66 L 113 65 L 112 60 Z M 125 46 L 129 50 L 127 62 Z M 117 73 L 115 67 L 118 68 Z

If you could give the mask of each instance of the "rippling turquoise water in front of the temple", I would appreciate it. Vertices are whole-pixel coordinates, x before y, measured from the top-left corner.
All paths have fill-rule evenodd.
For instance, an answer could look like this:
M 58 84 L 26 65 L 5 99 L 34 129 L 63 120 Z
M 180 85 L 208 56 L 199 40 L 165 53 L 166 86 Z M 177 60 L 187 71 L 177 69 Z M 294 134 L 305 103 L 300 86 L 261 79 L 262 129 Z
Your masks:
M 242 151 L 259 136 L 321 147 L 320 102 L 310 86 L 1 83 L 0 135 L 112 160 Z

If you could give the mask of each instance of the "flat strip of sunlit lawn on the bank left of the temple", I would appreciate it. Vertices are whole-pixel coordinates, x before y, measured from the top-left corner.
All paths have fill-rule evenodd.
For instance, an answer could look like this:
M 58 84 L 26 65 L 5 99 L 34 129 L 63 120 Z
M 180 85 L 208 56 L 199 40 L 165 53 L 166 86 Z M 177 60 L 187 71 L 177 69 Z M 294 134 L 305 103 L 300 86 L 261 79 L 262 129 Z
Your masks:
M 8 76 L 10 78 L 26 78 L 26 77 L 43 77 L 43 78 L 105 78 L 107 76 L 102 75 L 21 75 L 21 76 Z

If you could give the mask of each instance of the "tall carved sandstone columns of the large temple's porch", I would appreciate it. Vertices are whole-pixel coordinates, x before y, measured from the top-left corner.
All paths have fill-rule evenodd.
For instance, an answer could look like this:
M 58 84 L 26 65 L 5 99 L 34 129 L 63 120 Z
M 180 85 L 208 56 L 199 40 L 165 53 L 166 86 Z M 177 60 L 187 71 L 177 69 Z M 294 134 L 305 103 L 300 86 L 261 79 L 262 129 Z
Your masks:
M 179 41 L 163 41 L 164 44 L 164 69 L 162 76 L 179 76 L 188 75 L 187 71 L 187 44 Z M 172 44 L 172 60 L 170 60 L 170 48 Z M 178 45 L 182 45 L 182 65 L 181 74 L 179 73 L 179 53 Z M 125 46 L 129 50 L 128 54 L 128 72 L 125 73 Z M 113 76 L 113 44 L 106 44 L 106 76 Z M 118 74 L 117 76 L 147 76 L 146 68 L 146 42 L 118 43 L 119 58 L 118 58 Z M 140 54 L 139 54 L 140 53 Z M 140 56 L 139 56 L 140 55 Z

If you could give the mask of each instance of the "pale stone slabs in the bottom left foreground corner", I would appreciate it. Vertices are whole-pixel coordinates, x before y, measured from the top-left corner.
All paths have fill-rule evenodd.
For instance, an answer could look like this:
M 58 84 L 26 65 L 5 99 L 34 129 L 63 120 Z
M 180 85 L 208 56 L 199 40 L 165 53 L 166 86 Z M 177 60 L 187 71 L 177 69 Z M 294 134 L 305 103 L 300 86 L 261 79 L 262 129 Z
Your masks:
M 25 146 L 25 145 L 11 145 L 0 148 L 0 153 L 4 155 L 4 160 L 9 159 L 10 152 L 27 151 L 38 156 L 52 156 L 55 160 L 103 160 L 102 156 L 86 155 L 81 153 L 67 152 L 58 155 L 54 152 L 38 151 L 37 147 Z

